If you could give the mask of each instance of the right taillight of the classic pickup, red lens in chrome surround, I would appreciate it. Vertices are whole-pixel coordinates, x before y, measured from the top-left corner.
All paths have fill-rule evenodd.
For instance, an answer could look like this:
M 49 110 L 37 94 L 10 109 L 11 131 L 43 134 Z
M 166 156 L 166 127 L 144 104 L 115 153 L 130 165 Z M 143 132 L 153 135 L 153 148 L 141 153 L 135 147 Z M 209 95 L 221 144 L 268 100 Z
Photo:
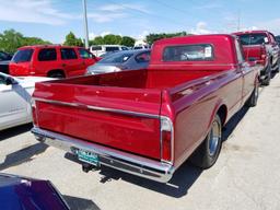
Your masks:
M 161 117 L 161 159 L 173 161 L 173 122 L 167 117 Z

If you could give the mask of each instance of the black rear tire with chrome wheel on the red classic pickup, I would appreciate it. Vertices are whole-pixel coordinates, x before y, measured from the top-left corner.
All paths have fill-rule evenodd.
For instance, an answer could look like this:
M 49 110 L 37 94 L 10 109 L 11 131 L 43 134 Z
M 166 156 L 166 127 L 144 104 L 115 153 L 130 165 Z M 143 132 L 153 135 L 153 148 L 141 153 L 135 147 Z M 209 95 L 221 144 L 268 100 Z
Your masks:
M 215 115 L 211 129 L 205 141 L 191 154 L 189 161 L 202 170 L 211 167 L 220 154 L 222 147 L 222 124 L 219 115 Z

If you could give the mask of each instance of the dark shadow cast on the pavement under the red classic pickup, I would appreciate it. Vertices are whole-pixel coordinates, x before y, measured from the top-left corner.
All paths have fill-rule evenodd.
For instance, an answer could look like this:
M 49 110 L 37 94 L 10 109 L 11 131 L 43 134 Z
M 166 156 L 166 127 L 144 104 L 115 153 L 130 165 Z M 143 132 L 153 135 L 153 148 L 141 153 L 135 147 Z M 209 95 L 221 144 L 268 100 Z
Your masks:
M 223 130 L 223 141 L 226 141 L 231 133 L 234 131 L 235 127 L 243 119 L 249 108 L 243 107 L 238 113 L 236 113 L 232 119 L 225 125 Z M 67 153 L 66 159 L 81 163 L 77 158 L 70 153 Z M 198 179 L 202 170 L 190 165 L 188 162 L 184 163 L 173 175 L 172 179 L 167 184 L 156 183 L 131 174 L 127 174 L 110 167 L 102 166 L 98 173 L 103 176 L 101 183 L 106 184 L 112 180 L 125 180 L 133 185 L 144 187 L 150 190 L 164 194 L 174 198 L 180 198 L 187 195 L 188 189 Z

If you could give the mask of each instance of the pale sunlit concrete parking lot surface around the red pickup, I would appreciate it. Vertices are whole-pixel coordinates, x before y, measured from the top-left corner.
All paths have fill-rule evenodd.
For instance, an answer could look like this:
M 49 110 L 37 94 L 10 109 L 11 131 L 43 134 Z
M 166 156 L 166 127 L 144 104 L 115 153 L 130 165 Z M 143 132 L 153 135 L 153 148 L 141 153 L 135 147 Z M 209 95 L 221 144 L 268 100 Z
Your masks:
M 112 168 L 84 173 L 65 152 L 38 143 L 31 125 L 0 132 L 0 171 L 50 179 L 72 209 L 280 209 L 280 75 L 258 105 L 228 124 L 215 165 L 184 164 L 168 184 Z

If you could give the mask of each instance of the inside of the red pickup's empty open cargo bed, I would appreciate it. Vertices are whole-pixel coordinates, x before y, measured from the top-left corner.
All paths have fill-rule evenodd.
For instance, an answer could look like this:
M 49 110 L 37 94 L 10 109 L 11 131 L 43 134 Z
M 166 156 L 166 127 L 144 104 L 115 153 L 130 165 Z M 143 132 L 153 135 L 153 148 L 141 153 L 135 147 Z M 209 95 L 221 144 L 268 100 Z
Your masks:
M 138 70 L 118 73 L 107 73 L 94 77 L 83 77 L 80 79 L 69 79 L 57 81 L 65 84 L 80 84 L 94 86 L 115 86 L 132 89 L 167 89 L 188 81 L 205 78 L 219 71 L 213 70 Z M 138 80 L 135 80 L 138 78 Z

